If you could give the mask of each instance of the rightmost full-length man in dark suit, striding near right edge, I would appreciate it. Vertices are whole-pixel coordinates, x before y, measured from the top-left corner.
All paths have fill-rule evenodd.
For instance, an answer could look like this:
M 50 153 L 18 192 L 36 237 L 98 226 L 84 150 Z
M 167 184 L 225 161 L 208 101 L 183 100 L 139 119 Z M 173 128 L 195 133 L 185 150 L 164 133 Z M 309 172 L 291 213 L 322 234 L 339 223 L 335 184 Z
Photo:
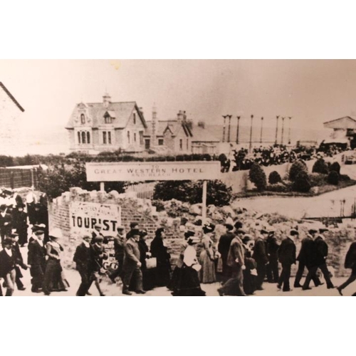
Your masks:
M 333 282 L 330 279 L 330 272 L 326 266 L 326 258 L 328 257 L 328 244 L 325 242 L 325 236 L 323 235 L 328 229 L 319 229 L 320 234 L 314 240 L 313 253 L 310 256 L 308 264 L 310 269 L 308 275 L 305 278 L 303 284 L 303 290 L 311 289 L 309 283 L 315 275 L 318 268 L 323 272 L 325 278 L 326 287 L 328 289 L 334 288 Z

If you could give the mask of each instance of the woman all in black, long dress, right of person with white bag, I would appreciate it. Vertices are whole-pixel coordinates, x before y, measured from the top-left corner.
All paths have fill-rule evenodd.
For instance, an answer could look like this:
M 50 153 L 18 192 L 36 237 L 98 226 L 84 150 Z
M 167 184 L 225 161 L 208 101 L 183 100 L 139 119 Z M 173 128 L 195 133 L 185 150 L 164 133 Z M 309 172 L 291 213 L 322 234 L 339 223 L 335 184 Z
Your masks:
M 155 239 L 151 242 L 151 253 L 152 257 L 157 258 L 157 268 L 156 268 L 156 286 L 163 287 L 167 286 L 169 279 L 171 278 L 171 255 L 167 251 L 167 247 L 164 245 L 164 228 L 159 228 L 156 230 Z

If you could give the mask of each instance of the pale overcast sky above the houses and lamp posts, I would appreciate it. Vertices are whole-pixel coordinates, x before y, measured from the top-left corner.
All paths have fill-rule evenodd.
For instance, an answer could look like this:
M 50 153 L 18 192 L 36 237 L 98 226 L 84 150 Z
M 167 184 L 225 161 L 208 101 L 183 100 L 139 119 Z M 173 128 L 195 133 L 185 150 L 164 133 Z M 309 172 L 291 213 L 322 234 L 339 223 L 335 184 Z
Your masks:
M 190 118 L 221 122 L 221 115 L 251 114 L 275 125 L 318 129 L 327 120 L 356 116 L 356 61 L 0 61 L 0 81 L 26 110 L 28 135 L 64 127 L 75 103 L 135 100 L 147 120 L 186 110 Z

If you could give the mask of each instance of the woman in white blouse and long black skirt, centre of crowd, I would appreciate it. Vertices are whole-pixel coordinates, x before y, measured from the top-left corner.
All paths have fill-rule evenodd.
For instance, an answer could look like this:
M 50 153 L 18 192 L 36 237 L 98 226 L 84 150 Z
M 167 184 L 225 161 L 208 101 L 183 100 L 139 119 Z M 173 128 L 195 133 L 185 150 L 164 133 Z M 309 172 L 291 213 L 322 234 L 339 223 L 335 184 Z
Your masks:
M 197 259 L 197 251 L 195 245 L 199 242 L 197 236 L 189 236 L 187 239 L 187 248 L 183 253 L 183 266 L 179 271 L 174 291 L 174 296 L 204 296 L 204 290 L 200 288 L 198 272 L 200 264 Z

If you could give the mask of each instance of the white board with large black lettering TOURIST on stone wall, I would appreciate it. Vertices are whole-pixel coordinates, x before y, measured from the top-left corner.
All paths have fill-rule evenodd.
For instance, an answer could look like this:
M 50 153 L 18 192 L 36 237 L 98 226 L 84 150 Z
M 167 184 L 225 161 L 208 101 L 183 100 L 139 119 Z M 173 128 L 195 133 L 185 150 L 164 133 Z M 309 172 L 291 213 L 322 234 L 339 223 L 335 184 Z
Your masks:
M 121 225 L 121 208 L 115 204 L 86 203 L 73 201 L 69 207 L 71 233 L 91 233 L 96 223 L 103 225 L 104 236 L 115 236 Z

